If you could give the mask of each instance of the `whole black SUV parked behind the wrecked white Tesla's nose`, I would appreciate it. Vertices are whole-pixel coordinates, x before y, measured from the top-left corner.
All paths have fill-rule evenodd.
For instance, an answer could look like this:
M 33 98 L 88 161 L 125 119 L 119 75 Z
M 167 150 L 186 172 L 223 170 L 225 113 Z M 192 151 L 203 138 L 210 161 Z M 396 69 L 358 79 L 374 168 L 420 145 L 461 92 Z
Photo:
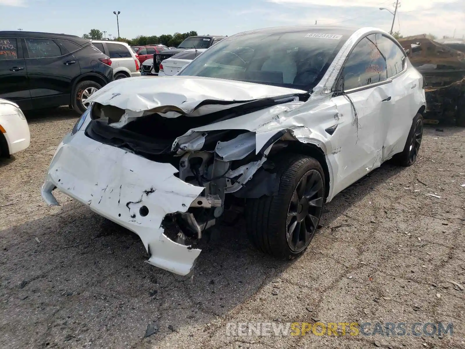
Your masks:
M 30 110 L 72 105 L 113 81 L 111 60 L 79 36 L 0 31 L 0 98 Z

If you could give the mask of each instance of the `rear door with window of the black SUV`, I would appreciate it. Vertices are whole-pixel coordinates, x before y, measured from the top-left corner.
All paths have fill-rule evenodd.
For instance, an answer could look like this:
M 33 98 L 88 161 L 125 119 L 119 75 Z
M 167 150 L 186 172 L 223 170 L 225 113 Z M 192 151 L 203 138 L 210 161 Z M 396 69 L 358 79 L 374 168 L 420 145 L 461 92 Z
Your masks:
M 73 79 L 81 73 L 76 58 L 57 40 L 23 40 L 33 107 L 68 105 Z

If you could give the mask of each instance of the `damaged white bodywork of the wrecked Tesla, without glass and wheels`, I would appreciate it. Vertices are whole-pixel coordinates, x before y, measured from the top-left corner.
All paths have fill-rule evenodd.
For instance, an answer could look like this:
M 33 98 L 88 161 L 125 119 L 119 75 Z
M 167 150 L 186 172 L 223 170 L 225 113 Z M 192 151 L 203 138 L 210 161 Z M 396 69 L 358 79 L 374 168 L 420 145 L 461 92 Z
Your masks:
M 178 242 L 200 238 L 221 216 L 227 195 L 276 195 L 279 178 L 266 170 L 271 154 L 292 144 L 318 149 L 328 172 L 327 202 L 403 150 L 412 119 L 425 106 L 421 75 L 412 66 L 369 88 L 334 91 L 351 48 L 377 31 L 354 32 L 310 92 L 195 76 L 108 84 L 91 97 L 82 126 L 60 144 L 42 196 L 58 204 L 52 194 L 58 188 L 138 234 L 148 262 L 186 275 L 200 250 Z M 170 135 L 162 135 L 168 146 L 141 152 L 125 137 L 139 130 L 128 130 L 131 125 L 151 118 L 171 125 Z M 176 134 L 185 129 L 176 120 L 195 126 Z M 112 140 L 113 131 L 126 133 L 119 143 L 98 141 L 91 132 L 96 124 L 111 129 Z M 167 217 L 179 222 L 175 239 L 166 236 Z

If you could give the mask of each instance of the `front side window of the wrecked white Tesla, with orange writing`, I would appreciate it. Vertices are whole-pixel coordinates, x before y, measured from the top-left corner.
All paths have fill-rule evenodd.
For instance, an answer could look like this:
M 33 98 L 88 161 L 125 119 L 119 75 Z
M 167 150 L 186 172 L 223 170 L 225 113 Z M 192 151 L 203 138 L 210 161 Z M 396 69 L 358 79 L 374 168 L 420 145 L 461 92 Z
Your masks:
M 378 37 L 373 34 L 354 47 L 342 72 L 344 90 L 386 80 L 386 58 L 378 46 Z

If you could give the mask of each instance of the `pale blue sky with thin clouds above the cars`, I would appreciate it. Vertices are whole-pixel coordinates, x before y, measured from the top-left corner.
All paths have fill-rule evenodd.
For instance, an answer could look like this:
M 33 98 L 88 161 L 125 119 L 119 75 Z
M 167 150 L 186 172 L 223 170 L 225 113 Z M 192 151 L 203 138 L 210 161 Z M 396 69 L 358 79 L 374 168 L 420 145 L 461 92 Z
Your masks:
M 390 30 L 395 0 L 213 0 L 122 1 L 0 0 L 0 30 L 82 35 L 97 28 L 117 34 L 113 11 L 121 11 L 120 35 L 232 35 L 245 30 L 318 24 L 380 27 Z M 404 35 L 465 35 L 464 0 L 403 0 L 394 31 Z M 137 7 L 134 4 L 139 4 Z M 324 5 L 322 5 L 324 4 Z M 142 5 L 145 5 L 142 8 Z

